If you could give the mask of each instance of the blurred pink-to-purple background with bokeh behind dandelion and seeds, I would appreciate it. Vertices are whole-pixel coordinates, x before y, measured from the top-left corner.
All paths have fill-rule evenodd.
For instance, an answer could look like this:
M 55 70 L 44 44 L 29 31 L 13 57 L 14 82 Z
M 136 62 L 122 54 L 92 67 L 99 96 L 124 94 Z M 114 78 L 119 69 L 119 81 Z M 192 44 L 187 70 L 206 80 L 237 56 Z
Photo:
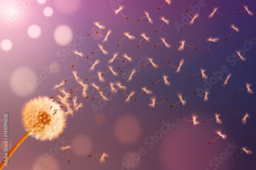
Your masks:
M 247 93 L 246 89 L 234 93 L 234 90 L 244 88 L 245 83 L 252 84 L 255 91 L 256 79 L 254 73 L 256 40 L 255 15 L 250 16 L 244 10 L 243 4 L 249 6 L 249 10 L 255 12 L 255 1 L 210 1 L 210 0 L 181 0 L 172 1 L 165 5 L 164 0 L 20 0 L 0 1 L 0 89 L 1 89 L 1 117 L 2 127 L 1 154 L 4 156 L 4 114 L 9 113 L 8 135 L 9 149 L 26 133 L 22 125 L 21 110 L 27 101 L 37 96 L 55 96 L 58 90 L 54 90 L 55 84 L 66 80 L 76 70 L 78 76 L 84 80 L 96 76 L 96 71 L 108 70 L 108 60 L 114 53 L 119 52 L 118 57 L 127 53 L 132 57 L 131 62 L 126 62 L 121 70 L 127 75 L 132 69 L 136 69 L 131 82 L 126 82 L 127 77 L 118 71 L 115 77 L 111 72 L 103 75 L 105 82 L 99 82 L 98 78 L 86 83 L 95 82 L 100 88 L 108 87 L 110 81 L 121 81 L 127 88 L 125 92 L 130 94 L 135 91 L 129 103 L 124 103 L 126 95 L 122 90 L 108 96 L 105 102 L 101 97 L 91 99 L 99 95 L 94 91 L 86 100 L 82 92 L 73 94 L 78 96 L 78 102 L 83 103 L 83 108 L 67 118 L 67 128 L 58 139 L 53 141 L 38 141 L 28 137 L 15 151 L 8 161 L 8 167 L 4 169 L 256 169 L 255 154 L 243 153 L 238 160 L 234 159 L 240 154 L 241 147 L 255 152 L 255 94 Z M 122 14 L 130 19 L 125 19 L 114 10 L 119 6 L 125 6 Z M 220 7 L 212 18 L 208 15 L 214 7 Z M 191 16 L 199 13 L 194 25 L 189 26 Z M 143 10 L 150 13 L 153 23 L 148 22 Z M 169 20 L 169 24 L 163 24 L 162 28 L 154 34 L 163 23 L 160 16 Z M 112 30 L 109 40 L 102 43 L 103 37 L 92 31 L 93 22 L 100 21 L 106 29 L 99 30 L 99 34 L 106 35 Z M 240 29 L 233 31 L 230 24 L 234 23 Z M 129 40 L 123 32 L 130 32 L 136 39 Z M 151 37 L 151 42 L 141 41 L 141 33 Z M 160 36 L 166 38 L 171 45 L 166 48 Z M 209 56 L 207 48 L 208 37 L 219 37 L 218 42 L 211 42 Z M 183 51 L 178 51 L 179 41 L 186 39 L 186 44 L 195 46 L 198 50 L 185 46 Z M 98 49 L 97 43 L 103 44 L 103 48 L 109 52 L 104 55 L 101 51 L 91 53 Z M 78 57 L 72 69 L 70 67 L 76 60 L 72 52 L 78 50 L 83 57 Z M 235 50 L 240 50 L 246 61 L 234 57 Z M 89 72 L 91 64 L 96 59 L 100 63 L 94 71 Z M 158 64 L 154 68 L 152 64 L 141 65 L 148 62 L 147 57 L 152 57 Z M 174 66 L 178 66 L 181 59 L 185 62 L 181 72 L 175 73 L 176 68 L 170 66 L 166 59 Z M 111 64 L 114 69 L 122 65 L 122 61 L 114 60 Z M 200 72 L 203 67 L 207 71 L 207 80 L 201 75 L 189 78 Z M 217 79 L 218 74 L 226 79 L 231 73 L 232 77 L 226 86 L 224 81 Z M 152 82 L 162 79 L 162 75 L 169 76 L 170 86 L 163 81 L 151 85 Z M 143 92 L 136 102 L 136 96 L 141 92 L 141 87 L 147 86 L 156 95 L 154 108 L 148 106 L 151 103 L 150 96 Z M 79 84 L 74 79 L 63 86 L 66 90 L 77 88 Z M 210 91 L 209 100 L 193 93 L 204 95 L 204 90 Z M 88 93 L 93 88 L 89 86 Z M 104 89 L 104 94 L 109 90 Z M 177 92 L 183 94 L 186 105 L 179 102 Z M 236 109 L 245 114 L 250 113 L 245 125 L 241 119 L 243 115 L 234 112 Z M 186 122 L 182 115 L 192 120 L 193 113 L 199 115 L 199 125 Z M 215 117 L 214 113 L 221 114 L 223 124 L 216 123 L 216 119 L 203 123 L 204 120 Z M 222 130 L 227 138 L 218 138 L 215 130 Z M 70 165 L 66 151 L 60 151 L 61 145 L 71 145 L 69 149 Z M 109 155 L 104 164 L 99 164 L 100 156 L 87 157 L 92 154 Z M 3 157 L 2 157 L 3 158 Z

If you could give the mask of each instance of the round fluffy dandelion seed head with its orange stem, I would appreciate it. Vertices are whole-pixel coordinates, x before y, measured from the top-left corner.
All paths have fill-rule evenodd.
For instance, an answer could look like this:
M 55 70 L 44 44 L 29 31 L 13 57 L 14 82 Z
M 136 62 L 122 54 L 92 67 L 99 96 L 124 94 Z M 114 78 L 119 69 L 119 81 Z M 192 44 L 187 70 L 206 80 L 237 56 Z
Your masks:
M 49 109 L 51 107 L 51 109 Z M 57 111 L 57 114 L 54 114 Z M 27 133 L 19 139 L 14 147 L 8 152 L 8 157 L 0 165 L 2 169 L 5 160 L 9 160 L 18 146 L 28 137 L 37 140 L 53 140 L 59 137 L 66 127 L 64 111 L 55 100 L 47 96 L 38 96 L 25 103 L 22 110 L 23 126 Z

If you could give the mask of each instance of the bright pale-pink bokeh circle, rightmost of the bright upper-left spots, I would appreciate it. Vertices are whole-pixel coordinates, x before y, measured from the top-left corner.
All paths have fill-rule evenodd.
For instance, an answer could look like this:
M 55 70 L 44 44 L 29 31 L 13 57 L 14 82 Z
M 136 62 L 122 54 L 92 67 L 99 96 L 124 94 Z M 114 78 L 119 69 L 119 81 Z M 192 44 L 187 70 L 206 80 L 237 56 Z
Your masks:
M 57 44 L 68 45 L 73 38 L 73 32 L 67 25 L 60 25 L 54 30 L 54 40 Z

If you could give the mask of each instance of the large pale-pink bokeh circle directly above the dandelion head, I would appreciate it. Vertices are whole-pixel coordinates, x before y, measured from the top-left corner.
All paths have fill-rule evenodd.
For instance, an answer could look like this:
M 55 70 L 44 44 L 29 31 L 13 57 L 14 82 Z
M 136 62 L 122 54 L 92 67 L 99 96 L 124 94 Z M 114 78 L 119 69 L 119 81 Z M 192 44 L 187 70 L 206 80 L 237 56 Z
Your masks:
M 39 80 L 35 80 L 35 73 L 28 67 L 19 67 L 12 72 L 10 78 L 10 86 L 12 91 L 18 96 L 29 96 L 31 95 L 37 85 L 40 83 Z

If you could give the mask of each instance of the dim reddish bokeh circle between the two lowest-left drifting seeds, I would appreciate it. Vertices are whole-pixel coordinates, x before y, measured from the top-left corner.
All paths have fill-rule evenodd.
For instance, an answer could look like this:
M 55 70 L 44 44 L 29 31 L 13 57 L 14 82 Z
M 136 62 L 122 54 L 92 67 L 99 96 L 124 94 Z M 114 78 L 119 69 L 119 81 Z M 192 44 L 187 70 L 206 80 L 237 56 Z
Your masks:
M 87 135 L 77 135 L 71 141 L 71 149 L 76 156 L 88 156 L 93 149 L 93 142 Z

